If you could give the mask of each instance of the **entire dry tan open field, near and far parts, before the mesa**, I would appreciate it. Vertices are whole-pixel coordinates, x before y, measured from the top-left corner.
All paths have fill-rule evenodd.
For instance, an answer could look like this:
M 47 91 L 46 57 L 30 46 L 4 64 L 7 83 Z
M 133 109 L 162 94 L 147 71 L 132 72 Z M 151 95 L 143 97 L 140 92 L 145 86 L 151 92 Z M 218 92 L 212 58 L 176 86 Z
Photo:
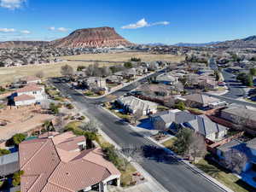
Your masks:
M 183 56 L 177 55 L 152 55 L 148 53 L 138 52 L 126 52 L 126 53 L 115 53 L 115 54 L 87 54 L 87 55 L 74 55 L 74 56 L 63 56 L 65 60 L 97 60 L 97 61 L 128 61 L 131 57 L 139 57 L 143 61 L 182 61 Z M 45 78 L 58 77 L 61 75 L 61 66 L 66 64 L 71 65 L 74 69 L 78 66 L 88 66 L 93 64 L 92 61 L 63 61 L 50 64 L 40 65 L 27 65 L 21 67 L 1 67 L 0 68 L 0 84 L 8 84 L 13 82 L 15 79 L 19 79 L 24 76 L 32 76 L 36 73 L 43 71 Z M 100 62 L 101 66 L 104 65 L 117 65 L 111 62 L 104 63 Z

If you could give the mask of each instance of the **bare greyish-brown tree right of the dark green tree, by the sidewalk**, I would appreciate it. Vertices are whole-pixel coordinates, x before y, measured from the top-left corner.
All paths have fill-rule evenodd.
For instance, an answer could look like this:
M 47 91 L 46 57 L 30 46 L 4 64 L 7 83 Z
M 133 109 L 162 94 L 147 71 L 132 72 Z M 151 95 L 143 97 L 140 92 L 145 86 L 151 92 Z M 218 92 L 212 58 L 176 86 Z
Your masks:
M 190 138 L 191 143 L 189 143 L 189 149 L 187 154 L 196 161 L 196 158 L 204 158 L 207 154 L 207 145 L 205 138 L 199 133 L 192 133 Z

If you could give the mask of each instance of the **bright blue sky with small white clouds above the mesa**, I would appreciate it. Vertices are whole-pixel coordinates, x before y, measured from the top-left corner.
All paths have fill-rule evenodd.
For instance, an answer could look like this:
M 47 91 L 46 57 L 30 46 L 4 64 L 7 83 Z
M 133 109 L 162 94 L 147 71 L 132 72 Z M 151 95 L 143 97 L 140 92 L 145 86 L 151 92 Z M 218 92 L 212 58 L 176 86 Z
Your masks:
M 0 41 L 97 26 L 138 44 L 223 41 L 256 35 L 255 9 L 255 0 L 0 0 Z

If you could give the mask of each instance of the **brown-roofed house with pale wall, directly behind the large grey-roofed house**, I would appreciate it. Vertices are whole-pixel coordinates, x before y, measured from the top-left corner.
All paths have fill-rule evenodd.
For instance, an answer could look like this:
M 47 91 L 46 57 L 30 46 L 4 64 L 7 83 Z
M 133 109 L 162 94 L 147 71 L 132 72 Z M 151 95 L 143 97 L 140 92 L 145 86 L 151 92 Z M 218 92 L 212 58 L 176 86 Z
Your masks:
M 215 97 L 206 96 L 199 93 L 182 96 L 182 98 L 183 101 L 191 108 L 207 108 L 213 102 L 220 102 L 220 100 Z

